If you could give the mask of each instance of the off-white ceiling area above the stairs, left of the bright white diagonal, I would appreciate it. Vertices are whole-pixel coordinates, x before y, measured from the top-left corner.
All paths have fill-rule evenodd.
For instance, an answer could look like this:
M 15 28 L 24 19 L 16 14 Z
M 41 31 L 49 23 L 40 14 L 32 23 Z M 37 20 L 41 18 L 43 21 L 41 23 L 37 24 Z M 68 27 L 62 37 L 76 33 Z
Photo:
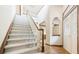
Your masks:
M 24 5 L 26 13 L 30 12 L 32 16 L 36 16 L 40 10 L 43 8 L 43 5 Z

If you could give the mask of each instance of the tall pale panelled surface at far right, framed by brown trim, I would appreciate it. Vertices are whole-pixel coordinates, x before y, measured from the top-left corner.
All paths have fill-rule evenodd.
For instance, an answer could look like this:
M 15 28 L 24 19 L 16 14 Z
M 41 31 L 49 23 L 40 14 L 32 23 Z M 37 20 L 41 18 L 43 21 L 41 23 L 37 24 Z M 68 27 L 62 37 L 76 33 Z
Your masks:
M 63 24 L 64 48 L 70 53 L 77 53 L 77 9 L 75 9 Z

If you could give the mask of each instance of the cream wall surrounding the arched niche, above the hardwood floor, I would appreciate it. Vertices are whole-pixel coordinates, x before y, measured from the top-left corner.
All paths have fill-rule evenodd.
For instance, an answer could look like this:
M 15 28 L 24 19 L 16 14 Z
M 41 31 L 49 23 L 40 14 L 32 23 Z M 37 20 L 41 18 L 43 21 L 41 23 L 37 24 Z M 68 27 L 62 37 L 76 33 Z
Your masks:
M 63 11 L 62 6 L 50 5 L 50 7 L 49 7 L 49 15 L 48 15 L 49 17 L 47 20 L 47 23 L 49 24 L 49 26 L 47 24 L 47 27 L 49 27 L 49 28 L 47 31 L 48 31 L 48 35 L 50 35 L 48 38 L 50 45 L 62 45 L 62 11 Z M 60 25 L 60 30 L 59 30 L 60 37 L 58 40 L 56 40 L 56 41 L 58 41 L 58 42 L 56 42 L 56 44 L 55 44 L 55 39 L 52 38 L 52 31 L 53 31 L 52 22 L 53 22 L 54 17 L 58 17 L 60 19 L 60 24 L 59 24 Z

